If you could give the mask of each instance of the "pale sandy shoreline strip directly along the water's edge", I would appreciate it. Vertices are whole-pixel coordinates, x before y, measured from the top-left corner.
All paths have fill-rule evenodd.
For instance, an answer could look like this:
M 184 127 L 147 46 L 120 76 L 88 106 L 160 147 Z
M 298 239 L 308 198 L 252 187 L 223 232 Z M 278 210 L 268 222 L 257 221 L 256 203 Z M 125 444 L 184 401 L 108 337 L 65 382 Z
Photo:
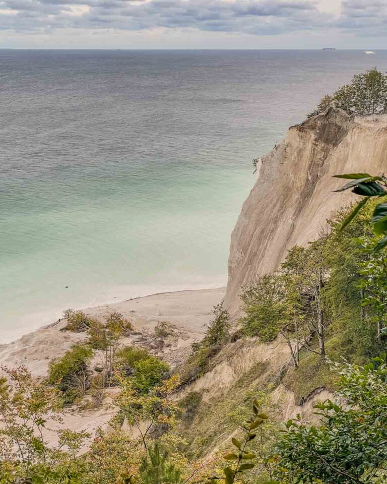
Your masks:
M 178 352 L 201 339 L 211 319 L 211 310 L 223 299 L 225 291 L 226 288 L 221 287 L 159 292 L 84 311 L 101 320 L 111 312 L 120 312 L 143 334 L 151 334 L 159 322 L 167 321 L 176 329 L 178 344 L 175 350 Z M 60 331 L 65 325 L 63 321 L 51 322 L 10 343 L 0 344 L 0 365 L 10 368 L 25 365 L 34 376 L 45 376 L 52 358 L 61 356 L 87 336 L 85 333 Z M 124 344 L 130 342 L 131 338 L 128 338 Z

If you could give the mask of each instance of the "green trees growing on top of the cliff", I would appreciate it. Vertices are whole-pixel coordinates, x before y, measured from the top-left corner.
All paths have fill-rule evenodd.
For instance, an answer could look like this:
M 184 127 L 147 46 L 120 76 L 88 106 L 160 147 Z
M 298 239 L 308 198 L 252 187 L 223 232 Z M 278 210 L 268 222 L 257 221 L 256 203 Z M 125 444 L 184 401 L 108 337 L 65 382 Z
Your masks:
M 351 84 L 340 87 L 332 96 L 324 96 L 309 117 L 331 106 L 344 109 L 349 114 L 387 112 L 387 75 L 376 67 L 355 75 Z

